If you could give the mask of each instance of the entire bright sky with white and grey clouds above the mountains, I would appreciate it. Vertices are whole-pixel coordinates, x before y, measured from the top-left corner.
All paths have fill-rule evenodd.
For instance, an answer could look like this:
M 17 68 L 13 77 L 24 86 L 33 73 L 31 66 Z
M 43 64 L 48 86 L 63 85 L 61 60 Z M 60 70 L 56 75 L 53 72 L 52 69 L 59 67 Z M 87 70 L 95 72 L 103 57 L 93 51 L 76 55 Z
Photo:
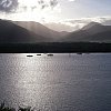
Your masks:
M 111 0 L 0 0 L 0 18 L 82 27 L 111 20 Z

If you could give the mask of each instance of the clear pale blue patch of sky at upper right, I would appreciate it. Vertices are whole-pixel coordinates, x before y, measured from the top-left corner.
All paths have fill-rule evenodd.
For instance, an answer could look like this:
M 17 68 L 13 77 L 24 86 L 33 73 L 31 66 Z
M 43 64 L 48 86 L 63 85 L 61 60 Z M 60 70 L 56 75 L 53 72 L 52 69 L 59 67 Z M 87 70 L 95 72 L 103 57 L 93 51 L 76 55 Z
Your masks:
M 64 18 L 80 19 L 111 14 L 111 0 L 61 0 Z

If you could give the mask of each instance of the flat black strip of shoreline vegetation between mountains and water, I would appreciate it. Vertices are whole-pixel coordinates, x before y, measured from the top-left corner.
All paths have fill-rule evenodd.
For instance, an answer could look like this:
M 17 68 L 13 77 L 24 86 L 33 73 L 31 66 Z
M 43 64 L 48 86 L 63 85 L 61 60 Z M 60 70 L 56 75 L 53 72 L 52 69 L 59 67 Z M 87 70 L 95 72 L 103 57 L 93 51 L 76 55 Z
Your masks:
M 91 53 L 111 52 L 111 43 L 104 42 L 38 42 L 0 43 L 0 53 Z

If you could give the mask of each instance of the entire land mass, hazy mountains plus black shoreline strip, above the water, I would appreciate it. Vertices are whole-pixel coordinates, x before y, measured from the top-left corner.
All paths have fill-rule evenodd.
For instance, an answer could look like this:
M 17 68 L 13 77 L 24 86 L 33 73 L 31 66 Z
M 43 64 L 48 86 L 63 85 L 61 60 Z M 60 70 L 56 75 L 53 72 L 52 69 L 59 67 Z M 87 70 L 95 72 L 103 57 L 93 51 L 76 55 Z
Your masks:
M 91 22 L 73 32 L 57 32 L 36 22 L 0 20 L 0 52 L 111 52 L 111 26 Z

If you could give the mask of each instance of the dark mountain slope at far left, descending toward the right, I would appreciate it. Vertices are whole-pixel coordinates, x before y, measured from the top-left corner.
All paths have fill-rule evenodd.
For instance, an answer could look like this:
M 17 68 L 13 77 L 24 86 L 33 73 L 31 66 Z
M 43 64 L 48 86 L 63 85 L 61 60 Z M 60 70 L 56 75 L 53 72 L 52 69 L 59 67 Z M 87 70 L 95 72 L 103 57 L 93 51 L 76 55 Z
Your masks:
M 21 28 L 11 21 L 0 20 L 0 43 L 12 42 L 43 42 L 49 41 L 42 36 Z

